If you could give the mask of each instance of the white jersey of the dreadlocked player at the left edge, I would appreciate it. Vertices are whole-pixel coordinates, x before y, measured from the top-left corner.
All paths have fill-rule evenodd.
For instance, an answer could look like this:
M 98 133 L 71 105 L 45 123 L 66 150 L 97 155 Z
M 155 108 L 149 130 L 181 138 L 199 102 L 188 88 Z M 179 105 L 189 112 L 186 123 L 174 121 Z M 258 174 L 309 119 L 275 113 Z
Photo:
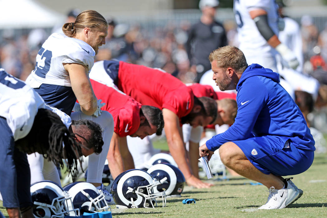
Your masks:
M 3 69 L 0 69 L 0 105 L 0 116 L 7 119 L 15 141 L 29 133 L 39 108 L 45 107 L 34 89 Z

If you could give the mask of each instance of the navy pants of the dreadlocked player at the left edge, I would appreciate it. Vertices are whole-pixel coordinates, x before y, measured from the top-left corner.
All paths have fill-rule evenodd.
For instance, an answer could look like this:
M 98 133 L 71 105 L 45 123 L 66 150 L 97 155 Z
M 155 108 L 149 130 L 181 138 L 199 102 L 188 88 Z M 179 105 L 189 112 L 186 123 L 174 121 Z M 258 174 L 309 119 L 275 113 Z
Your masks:
M 4 117 L 0 117 L 0 129 L 0 192 L 3 206 L 31 206 L 31 175 L 26 154 L 15 148 L 12 132 Z

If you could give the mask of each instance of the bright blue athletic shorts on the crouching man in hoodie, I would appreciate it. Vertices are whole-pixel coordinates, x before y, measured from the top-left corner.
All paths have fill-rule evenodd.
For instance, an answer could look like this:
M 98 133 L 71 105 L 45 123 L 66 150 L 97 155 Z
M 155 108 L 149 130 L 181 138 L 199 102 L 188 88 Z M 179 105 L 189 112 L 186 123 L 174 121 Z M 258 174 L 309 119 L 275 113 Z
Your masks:
M 289 176 L 303 173 L 312 164 L 314 151 L 296 146 L 286 137 L 262 136 L 233 141 L 264 174 Z

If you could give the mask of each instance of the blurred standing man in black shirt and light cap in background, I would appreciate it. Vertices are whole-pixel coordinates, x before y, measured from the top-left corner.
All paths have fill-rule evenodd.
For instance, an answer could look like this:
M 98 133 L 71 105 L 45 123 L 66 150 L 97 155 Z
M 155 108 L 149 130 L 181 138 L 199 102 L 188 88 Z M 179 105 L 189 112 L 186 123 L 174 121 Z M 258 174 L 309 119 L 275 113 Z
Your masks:
M 227 45 L 226 32 L 223 25 L 215 21 L 218 0 L 200 0 L 199 8 L 202 12 L 200 21 L 189 31 L 186 51 L 191 63 L 191 69 L 197 72 L 199 82 L 201 76 L 211 69 L 208 60 L 210 52 Z

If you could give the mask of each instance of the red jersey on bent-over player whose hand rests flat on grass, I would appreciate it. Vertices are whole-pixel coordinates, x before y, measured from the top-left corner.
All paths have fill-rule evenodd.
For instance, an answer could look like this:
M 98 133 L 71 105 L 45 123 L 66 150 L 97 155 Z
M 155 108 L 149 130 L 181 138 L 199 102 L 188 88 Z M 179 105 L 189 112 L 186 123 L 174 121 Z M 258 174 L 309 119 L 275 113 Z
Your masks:
M 118 89 L 142 105 L 173 111 L 179 118 L 191 112 L 192 90 L 178 78 L 161 70 L 119 62 Z

